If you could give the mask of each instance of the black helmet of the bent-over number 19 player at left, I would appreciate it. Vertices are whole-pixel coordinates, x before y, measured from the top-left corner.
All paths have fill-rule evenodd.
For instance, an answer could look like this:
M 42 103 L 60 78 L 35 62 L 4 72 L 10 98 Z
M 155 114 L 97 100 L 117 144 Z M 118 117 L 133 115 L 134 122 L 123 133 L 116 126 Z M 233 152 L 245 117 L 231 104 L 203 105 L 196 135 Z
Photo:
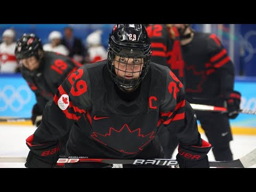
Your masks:
M 38 50 L 43 51 L 41 39 L 35 34 L 23 34 L 15 46 L 15 56 L 18 60 L 35 56 L 39 60 Z

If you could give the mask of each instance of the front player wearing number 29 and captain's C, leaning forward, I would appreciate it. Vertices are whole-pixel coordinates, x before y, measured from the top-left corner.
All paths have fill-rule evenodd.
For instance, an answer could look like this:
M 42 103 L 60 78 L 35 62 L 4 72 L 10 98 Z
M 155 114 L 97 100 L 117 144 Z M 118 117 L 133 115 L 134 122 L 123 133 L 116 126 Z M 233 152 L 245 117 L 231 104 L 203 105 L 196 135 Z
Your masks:
M 25 166 L 53 167 L 59 139 L 69 131 L 67 157 L 165 158 L 157 137 L 161 127 L 176 130 L 180 167 L 209 167 L 211 145 L 201 139 L 182 83 L 169 68 L 150 62 L 150 54 L 143 25 L 115 25 L 107 60 L 76 70 L 46 104 L 42 123 L 26 140 L 30 151 Z M 150 165 L 124 165 L 133 166 Z

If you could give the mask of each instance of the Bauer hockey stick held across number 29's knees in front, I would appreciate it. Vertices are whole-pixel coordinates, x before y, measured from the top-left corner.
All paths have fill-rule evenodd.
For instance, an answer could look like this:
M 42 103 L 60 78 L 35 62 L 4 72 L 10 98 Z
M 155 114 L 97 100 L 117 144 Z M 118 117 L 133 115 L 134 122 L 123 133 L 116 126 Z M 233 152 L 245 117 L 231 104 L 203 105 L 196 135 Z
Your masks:
M 0 163 L 25 163 L 26 157 L 0 156 Z M 59 158 L 58 163 L 97 162 L 106 164 L 133 164 L 133 165 L 159 165 L 177 166 L 176 159 L 90 159 L 90 158 Z M 210 167 L 248 168 L 256 164 L 256 149 L 245 156 L 233 161 L 210 161 Z

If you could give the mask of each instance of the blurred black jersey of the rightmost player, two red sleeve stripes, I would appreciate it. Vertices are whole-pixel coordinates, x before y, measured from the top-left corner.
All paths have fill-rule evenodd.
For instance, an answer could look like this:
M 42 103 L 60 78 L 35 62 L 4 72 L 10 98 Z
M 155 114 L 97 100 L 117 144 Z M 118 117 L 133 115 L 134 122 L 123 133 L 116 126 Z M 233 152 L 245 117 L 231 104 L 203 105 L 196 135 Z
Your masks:
M 234 64 L 214 34 L 195 32 L 182 46 L 186 69 L 186 98 L 190 103 L 223 105 L 233 91 Z

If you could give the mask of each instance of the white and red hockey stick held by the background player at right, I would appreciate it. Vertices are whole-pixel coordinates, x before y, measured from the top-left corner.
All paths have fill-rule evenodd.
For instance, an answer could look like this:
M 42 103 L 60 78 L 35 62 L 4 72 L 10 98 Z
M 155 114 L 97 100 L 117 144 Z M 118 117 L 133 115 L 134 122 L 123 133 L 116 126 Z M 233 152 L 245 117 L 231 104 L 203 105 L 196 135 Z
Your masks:
M 190 103 L 190 106 L 194 110 L 203 110 L 203 111 L 216 111 L 216 112 L 223 112 L 227 113 L 227 108 L 226 107 L 217 107 L 217 106 L 209 106 L 209 105 L 199 105 L 199 104 L 193 104 Z M 250 110 L 250 109 L 240 109 L 236 113 L 241 113 L 241 114 L 249 114 L 249 115 L 256 115 L 256 111 Z

